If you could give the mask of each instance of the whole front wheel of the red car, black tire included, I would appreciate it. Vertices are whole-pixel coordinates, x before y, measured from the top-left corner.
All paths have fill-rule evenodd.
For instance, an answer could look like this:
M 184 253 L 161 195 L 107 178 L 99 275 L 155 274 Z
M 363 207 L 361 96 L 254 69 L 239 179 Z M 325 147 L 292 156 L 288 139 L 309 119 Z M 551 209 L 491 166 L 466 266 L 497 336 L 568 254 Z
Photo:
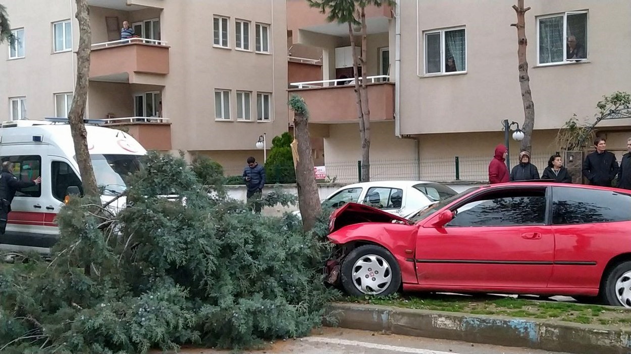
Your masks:
M 394 256 L 374 244 L 353 249 L 342 262 L 341 277 L 344 290 L 353 296 L 387 296 L 401 286 L 401 270 Z

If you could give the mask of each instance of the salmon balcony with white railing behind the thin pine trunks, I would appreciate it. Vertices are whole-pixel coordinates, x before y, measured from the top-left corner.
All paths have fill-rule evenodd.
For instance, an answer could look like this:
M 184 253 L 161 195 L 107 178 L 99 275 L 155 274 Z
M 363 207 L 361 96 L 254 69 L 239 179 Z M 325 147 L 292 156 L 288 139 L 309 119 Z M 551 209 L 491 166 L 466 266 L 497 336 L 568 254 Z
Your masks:
M 387 79 L 386 75 L 367 77 L 371 122 L 394 120 L 394 83 Z M 352 83 L 353 79 L 291 83 L 290 87 L 295 88 L 288 89 L 288 94 L 304 98 L 310 123 L 353 123 L 358 118 Z

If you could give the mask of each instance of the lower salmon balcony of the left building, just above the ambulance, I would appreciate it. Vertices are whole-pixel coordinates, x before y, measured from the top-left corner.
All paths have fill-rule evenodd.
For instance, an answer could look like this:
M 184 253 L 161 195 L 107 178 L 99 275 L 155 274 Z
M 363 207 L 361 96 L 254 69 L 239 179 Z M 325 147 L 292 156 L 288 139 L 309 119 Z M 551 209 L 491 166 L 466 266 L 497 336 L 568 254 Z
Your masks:
M 171 123 L 167 118 L 125 117 L 103 119 L 105 127 L 126 131 L 147 150 L 171 150 Z

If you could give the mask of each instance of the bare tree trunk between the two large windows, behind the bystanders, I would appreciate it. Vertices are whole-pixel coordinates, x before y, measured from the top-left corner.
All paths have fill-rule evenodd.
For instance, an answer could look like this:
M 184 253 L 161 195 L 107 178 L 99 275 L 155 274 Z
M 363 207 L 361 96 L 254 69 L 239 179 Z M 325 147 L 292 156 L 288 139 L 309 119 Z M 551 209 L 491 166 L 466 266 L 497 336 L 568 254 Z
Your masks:
M 526 19 L 525 14 L 530 8 L 524 9 L 524 0 L 517 0 L 517 5 L 512 6 L 517 13 L 517 23 L 511 26 L 517 28 L 517 58 L 519 59 L 519 86 L 521 86 L 521 98 L 524 102 L 524 140 L 521 140 L 521 149 L 532 151 L 531 138 L 534 128 L 534 102 L 533 95 L 530 91 L 530 77 L 528 76 L 528 60 L 526 58 L 526 47 L 528 39 L 526 39 Z

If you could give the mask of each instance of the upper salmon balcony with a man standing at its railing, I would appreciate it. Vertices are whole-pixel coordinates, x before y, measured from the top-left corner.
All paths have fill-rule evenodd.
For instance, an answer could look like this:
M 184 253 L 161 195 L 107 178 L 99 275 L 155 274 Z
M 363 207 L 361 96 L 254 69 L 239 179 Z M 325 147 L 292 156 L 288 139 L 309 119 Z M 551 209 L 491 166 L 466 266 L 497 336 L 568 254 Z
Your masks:
M 95 43 L 90 55 L 90 80 L 163 85 L 169 70 L 166 43 L 147 38 Z

